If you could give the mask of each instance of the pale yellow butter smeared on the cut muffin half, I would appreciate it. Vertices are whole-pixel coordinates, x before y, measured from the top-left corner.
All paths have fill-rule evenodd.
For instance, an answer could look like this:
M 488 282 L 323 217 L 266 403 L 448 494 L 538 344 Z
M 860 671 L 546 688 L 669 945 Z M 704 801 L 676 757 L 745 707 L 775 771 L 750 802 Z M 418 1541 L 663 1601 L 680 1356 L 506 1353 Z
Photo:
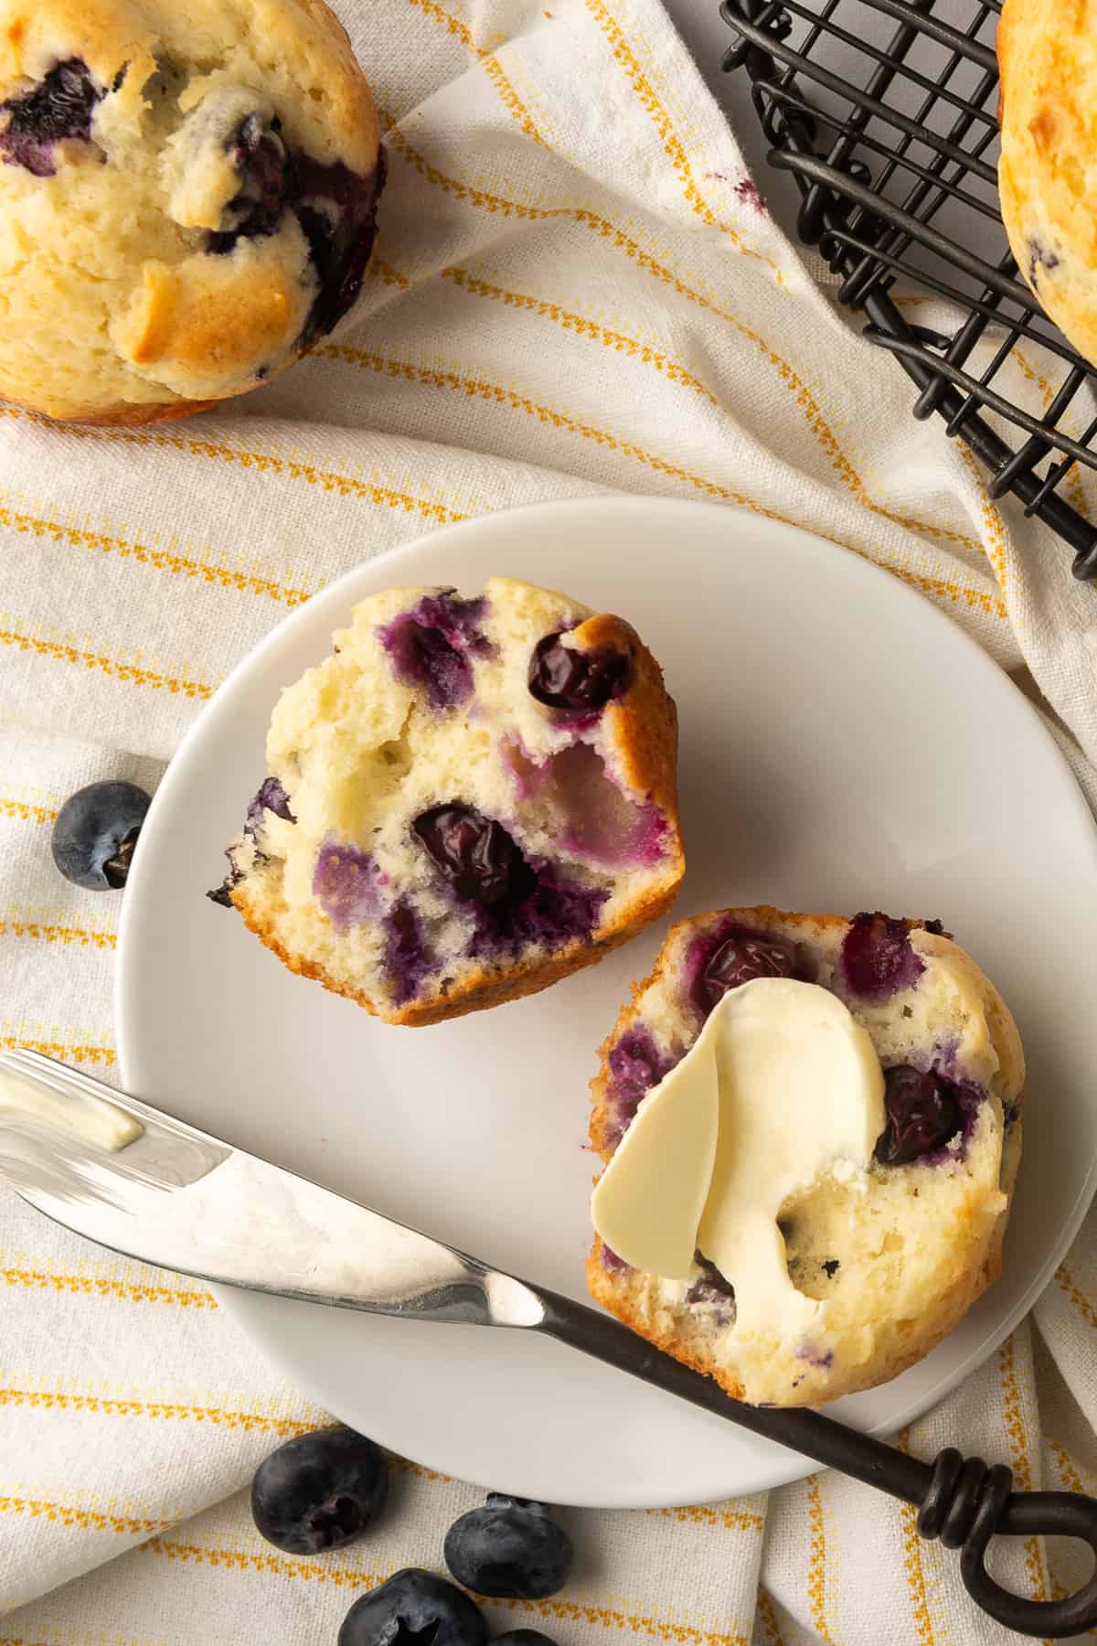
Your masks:
M 724 996 L 636 1109 L 594 1190 L 594 1226 L 668 1279 L 699 1249 L 735 1287 L 735 1332 L 796 1332 L 821 1305 L 789 1281 L 780 1208 L 826 1172 L 863 1170 L 883 1124 L 880 1058 L 842 1001 L 758 978 Z

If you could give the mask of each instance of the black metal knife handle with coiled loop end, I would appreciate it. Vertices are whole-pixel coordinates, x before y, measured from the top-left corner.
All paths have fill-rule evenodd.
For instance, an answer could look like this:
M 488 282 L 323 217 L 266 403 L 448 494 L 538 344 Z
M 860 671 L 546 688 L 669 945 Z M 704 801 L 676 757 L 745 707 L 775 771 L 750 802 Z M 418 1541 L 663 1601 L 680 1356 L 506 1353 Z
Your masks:
M 933 1463 L 923 1463 L 806 1406 L 747 1406 L 730 1399 L 712 1378 L 653 1348 L 612 1315 L 539 1287 L 538 1295 L 544 1307 L 538 1330 L 561 1343 L 816 1463 L 852 1475 L 877 1491 L 913 1503 L 919 1534 L 941 1537 L 946 1549 L 960 1551 L 967 1593 L 1003 1628 L 1064 1639 L 1097 1623 L 1097 1565 L 1076 1593 L 1061 1600 L 1013 1595 L 990 1577 L 985 1565 L 987 1546 L 995 1534 L 1081 1537 L 1097 1555 L 1097 1500 L 1072 1491 L 1013 1491 L 1013 1472 L 1005 1463 L 988 1467 L 979 1457 L 964 1458 L 956 1447 L 944 1447 Z

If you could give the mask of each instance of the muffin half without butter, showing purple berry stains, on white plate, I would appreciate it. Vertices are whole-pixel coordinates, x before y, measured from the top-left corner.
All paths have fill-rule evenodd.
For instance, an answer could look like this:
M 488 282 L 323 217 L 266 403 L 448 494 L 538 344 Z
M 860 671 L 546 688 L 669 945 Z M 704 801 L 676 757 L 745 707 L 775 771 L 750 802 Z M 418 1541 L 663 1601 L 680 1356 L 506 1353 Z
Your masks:
M 528 583 L 388 589 L 283 691 L 229 902 L 396 1024 L 546 988 L 671 904 L 678 723 L 620 617 Z

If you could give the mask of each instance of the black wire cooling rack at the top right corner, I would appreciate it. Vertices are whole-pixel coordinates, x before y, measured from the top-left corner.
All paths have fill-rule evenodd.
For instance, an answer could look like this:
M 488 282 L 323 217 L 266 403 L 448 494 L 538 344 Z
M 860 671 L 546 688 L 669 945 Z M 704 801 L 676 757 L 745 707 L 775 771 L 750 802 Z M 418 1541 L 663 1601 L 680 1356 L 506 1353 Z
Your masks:
M 1097 576 L 1097 527 L 1076 464 L 1097 469 L 1094 372 L 1018 278 L 998 214 L 1002 0 L 724 0 L 770 148 L 801 194 L 798 232 L 840 277 L 839 298 L 990 471 Z M 975 250 L 975 247 L 979 250 Z M 947 300 L 956 323 L 905 319 L 896 280 Z M 987 334 L 987 349 L 972 356 Z M 1043 346 L 1043 357 L 1025 344 Z M 1010 362 L 1016 370 L 1002 377 Z M 1020 379 L 1016 375 L 1020 372 Z M 1033 415 L 1010 395 L 1025 380 Z

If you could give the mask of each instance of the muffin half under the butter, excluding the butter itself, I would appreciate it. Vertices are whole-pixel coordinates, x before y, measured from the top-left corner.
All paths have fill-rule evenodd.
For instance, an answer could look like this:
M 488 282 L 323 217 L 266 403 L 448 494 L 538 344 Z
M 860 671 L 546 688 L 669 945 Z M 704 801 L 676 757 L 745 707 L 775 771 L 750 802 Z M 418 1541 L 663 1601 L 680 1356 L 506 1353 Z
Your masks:
M 737 1320 L 735 1287 L 701 1244 L 686 1274 L 664 1279 L 599 1238 L 587 1277 L 612 1314 L 737 1399 L 814 1406 L 896 1376 L 997 1279 L 1025 1060 L 1002 996 L 936 922 L 707 914 L 671 927 L 602 1047 L 590 1137 L 605 1164 L 717 1002 L 760 978 L 837 997 L 883 1075 L 883 1126 L 862 1165 L 835 1160 L 778 1208 L 796 1330 Z

